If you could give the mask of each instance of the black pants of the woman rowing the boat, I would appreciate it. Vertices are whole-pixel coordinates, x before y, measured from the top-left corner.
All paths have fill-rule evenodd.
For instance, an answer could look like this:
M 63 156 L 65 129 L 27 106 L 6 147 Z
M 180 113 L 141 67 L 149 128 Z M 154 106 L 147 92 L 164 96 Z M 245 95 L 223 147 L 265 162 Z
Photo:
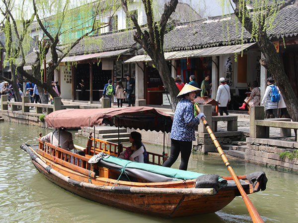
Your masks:
M 181 164 L 179 169 L 187 170 L 188 160 L 191 154 L 191 147 L 192 142 L 171 139 L 171 155 L 162 166 L 171 167 L 178 159 L 179 153 L 181 153 Z

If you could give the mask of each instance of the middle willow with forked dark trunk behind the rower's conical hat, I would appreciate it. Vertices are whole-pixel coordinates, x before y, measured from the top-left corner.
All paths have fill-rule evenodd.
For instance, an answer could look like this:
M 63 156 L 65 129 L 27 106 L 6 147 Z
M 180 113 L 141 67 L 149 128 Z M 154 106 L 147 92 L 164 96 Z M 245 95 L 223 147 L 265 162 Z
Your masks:
M 126 16 L 133 21 L 136 27 L 134 40 L 139 43 L 151 57 L 154 66 L 159 72 L 165 89 L 170 94 L 172 109 L 175 110 L 178 103 L 176 96 L 178 95 L 179 90 L 171 77 L 171 72 L 163 55 L 163 40 L 167 22 L 171 14 L 175 11 L 178 0 L 170 0 L 168 3 L 164 4 L 163 13 L 161 14 L 159 21 L 155 20 L 152 0 L 142 0 L 147 16 L 147 26 L 145 29 L 140 27 L 135 14 L 129 10 L 129 2 L 129 0 L 121 0 Z

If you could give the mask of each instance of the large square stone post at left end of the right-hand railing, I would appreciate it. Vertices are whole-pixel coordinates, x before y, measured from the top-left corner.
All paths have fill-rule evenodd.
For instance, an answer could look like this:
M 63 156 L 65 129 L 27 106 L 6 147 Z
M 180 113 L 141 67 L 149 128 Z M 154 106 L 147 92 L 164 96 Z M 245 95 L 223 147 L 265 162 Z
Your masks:
M 249 111 L 249 137 L 266 138 L 269 136 L 269 127 L 255 125 L 255 120 L 263 120 L 265 117 L 263 106 L 252 106 Z

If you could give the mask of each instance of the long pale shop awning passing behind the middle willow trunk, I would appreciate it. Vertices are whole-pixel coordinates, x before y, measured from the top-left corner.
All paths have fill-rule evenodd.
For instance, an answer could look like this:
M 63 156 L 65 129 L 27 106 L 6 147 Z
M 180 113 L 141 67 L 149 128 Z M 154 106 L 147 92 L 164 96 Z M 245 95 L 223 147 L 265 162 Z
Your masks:
M 241 51 L 244 51 L 247 48 L 249 48 L 255 44 L 256 43 L 249 43 L 249 44 L 240 44 L 240 45 L 233 45 L 233 46 L 210 47 L 210 48 L 188 50 L 188 51 L 166 52 L 166 53 L 164 53 L 164 58 L 166 60 L 170 60 L 170 59 L 183 59 L 183 58 L 191 58 L 191 57 L 221 56 L 221 55 L 228 55 L 228 54 L 239 54 Z M 138 55 L 138 56 L 134 56 L 124 62 L 131 63 L 131 62 L 146 62 L 146 61 L 151 61 L 150 56 Z

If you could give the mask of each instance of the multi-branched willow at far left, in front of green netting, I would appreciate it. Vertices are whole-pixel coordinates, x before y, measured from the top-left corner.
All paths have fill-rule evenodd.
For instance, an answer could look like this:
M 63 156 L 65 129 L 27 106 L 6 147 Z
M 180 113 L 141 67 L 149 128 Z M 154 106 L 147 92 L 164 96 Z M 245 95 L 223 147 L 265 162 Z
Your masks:
M 18 13 L 16 13 L 13 8 L 9 7 L 12 0 L 2 1 L 11 20 L 11 29 L 15 33 L 15 41 L 19 46 L 17 55 L 20 61 L 15 61 L 16 71 L 29 81 L 37 84 L 43 103 L 47 103 L 43 89 L 49 92 L 52 97 L 58 96 L 51 87 L 51 82 L 55 69 L 59 68 L 62 59 L 81 40 L 98 33 L 101 28 L 108 26 L 108 23 L 101 21 L 101 16 L 116 11 L 117 8 L 116 0 L 98 0 L 94 2 L 90 0 L 23 0 L 23 4 L 20 5 L 26 5 L 29 11 L 32 9 L 33 14 L 30 20 L 26 20 L 28 21 L 26 24 L 30 28 L 27 27 L 28 29 L 24 30 L 18 25 L 17 21 L 25 21 L 23 19 L 25 11 L 17 10 Z M 28 11 L 26 12 L 28 13 Z M 15 15 L 18 17 L 15 18 Z M 35 18 L 36 21 L 33 22 L 32 18 Z M 24 69 L 26 65 L 25 49 L 33 46 L 28 47 L 28 42 L 25 45 L 21 33 L 26 31 L 26 35 L 32 35 L 33 25 L 36 27 L 35 35 L 39 38 L 37 38 L 38 49 L 35 51 L 35 61 L 31 65 L 33 74 L 30 74 Z M 63 40 L 63 45 L 61 45 L 61 40 Z M 100 40 L 97 39 L 94 42 L 100 42 Z M 46 77 L 43 76 L 44 72 L 42 70 L 44 61 L 48 64 L 45 72 Z

